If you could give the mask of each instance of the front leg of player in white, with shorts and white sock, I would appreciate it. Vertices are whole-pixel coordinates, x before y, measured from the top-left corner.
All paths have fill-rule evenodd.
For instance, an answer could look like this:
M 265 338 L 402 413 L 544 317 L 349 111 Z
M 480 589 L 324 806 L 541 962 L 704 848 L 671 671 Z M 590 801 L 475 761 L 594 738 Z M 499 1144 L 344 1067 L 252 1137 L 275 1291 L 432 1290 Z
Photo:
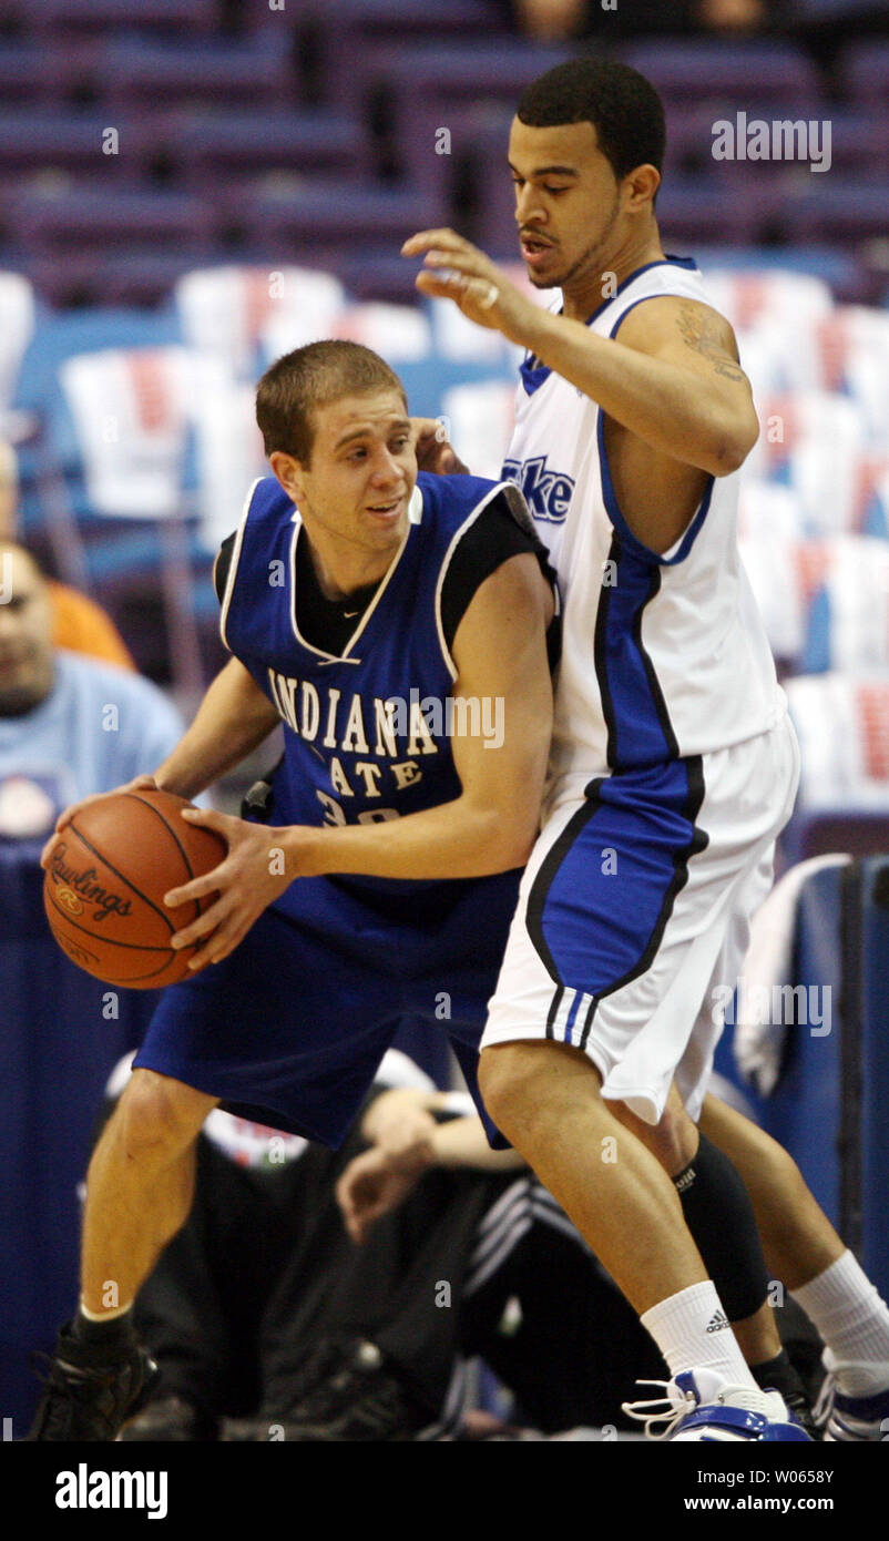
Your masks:
M 704 761 L 607 778 L 561 803 L 522 881 L 484 1036 L 495 1120 L 642 1313 L 673 1376 L 721 1361 L 723 1384 L 735 1382 L 736 1405 L 747 1410 L 764 1393 L 672 1174 L 612 1110 L 626 1103 L 656 1126 L 676 1077 L 689 1113 L 698 1111 L 718 1037 L 703 1005 L 740 894 L 786 814 L 792 770 L 790 743 L 775 734 Z M 667 1167 L 681 1160 L 683 1176 L 699 1147 L 693 1126 L 681 1122 L 678 1131 Z M 612 1145 L 618 1156 L 609 1162 Z M 716 1159 L 716 1190 L 720 1167 L 724 1176 Z M 718 1191 L 707 1207 L 709 1230 L 724 1231 Z M 766 1299 L 761 1259 L 760 1270 L 750 1316 Z M 772 1347 L 780 1350 L 777 1339 Z M 709 1401 L 712 1384 L 707 1375 Z M 684 1382 L 673 1392 L 681 1407 Z M 767 1407 L 764 1419 L 775 1416 Z

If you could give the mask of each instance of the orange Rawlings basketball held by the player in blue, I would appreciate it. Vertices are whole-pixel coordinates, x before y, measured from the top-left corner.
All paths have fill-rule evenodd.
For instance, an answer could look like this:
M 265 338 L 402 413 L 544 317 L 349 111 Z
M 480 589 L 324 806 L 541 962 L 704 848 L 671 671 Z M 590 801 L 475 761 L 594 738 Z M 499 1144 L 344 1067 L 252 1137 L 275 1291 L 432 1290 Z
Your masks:
M 65 826 L 43 880 L 52 935 L 72 963 L 106 985 L 159 989 L 188 975 L 197 946 L 169 938 L 208 909 L 214 894 L 169 909 L 171 888 L 225 860 L 226 843 L 180 817 L 183 797 L 151 787 L 111 792 Z

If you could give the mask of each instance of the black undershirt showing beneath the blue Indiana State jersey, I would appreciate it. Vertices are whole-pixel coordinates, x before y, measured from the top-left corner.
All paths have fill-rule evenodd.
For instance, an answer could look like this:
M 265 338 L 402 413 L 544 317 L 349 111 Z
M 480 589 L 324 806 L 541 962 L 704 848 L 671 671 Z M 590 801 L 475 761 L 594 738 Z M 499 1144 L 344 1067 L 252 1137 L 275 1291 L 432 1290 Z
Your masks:
M 222 603 L 234 535 L 230 535 L 219 549 L 216 559 L 214 581 L 216 593 Z M 521 552 L 533 552 L 541 562 L 544 573 L 550 575 L 547 550 L 536 536 L 522 529 L 512 515 L 505 498 L 493 498 L 482 509 L 478 519 L 458 542 L 442 584 L 441 610 L 442 630 L 448 652 L 453 647 L 458 627 L 473 599 L 476 590 L 490 578 L 498 567 L 502 567 L 510 556 Z M 365 584 L 342 599 L 328 599 L 322 592 L 314 573 L 314 566 L 307 559 L 305 547 L 297 547 L 296 561 L 296 615 L 300 635 L 311 647 L 317 647 L 333 656 L 341 656 L 350 636 L 356 632 L 361 616 L 371 603 L 382 578 Z M 550 666 L 558 661 L 558 618 L 553 616 L 547 633 L 547 649 Z

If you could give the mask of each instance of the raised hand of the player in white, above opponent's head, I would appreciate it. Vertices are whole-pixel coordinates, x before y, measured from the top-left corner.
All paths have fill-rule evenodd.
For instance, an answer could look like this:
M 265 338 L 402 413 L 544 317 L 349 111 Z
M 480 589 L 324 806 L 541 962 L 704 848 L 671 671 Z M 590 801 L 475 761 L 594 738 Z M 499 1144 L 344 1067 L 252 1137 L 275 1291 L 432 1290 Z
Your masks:
M 478 327 L 502 331 L 510 342 L 525 345 L 538 307 L 498 268 L 484 251 L 453 230 L 421 230 L 401 248 L 402 257 L 424 259 L 416 276 L 421 294 L 453 299 Z

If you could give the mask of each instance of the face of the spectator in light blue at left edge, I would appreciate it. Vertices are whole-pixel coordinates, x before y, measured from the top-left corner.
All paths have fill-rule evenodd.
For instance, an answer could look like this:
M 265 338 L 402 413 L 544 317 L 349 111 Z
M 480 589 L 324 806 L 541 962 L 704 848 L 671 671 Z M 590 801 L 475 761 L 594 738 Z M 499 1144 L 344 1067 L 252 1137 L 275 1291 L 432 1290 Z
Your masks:
M 25 552 L 0 546 L 0 717 L 32 710 L 52 687 L 52 612 Z

